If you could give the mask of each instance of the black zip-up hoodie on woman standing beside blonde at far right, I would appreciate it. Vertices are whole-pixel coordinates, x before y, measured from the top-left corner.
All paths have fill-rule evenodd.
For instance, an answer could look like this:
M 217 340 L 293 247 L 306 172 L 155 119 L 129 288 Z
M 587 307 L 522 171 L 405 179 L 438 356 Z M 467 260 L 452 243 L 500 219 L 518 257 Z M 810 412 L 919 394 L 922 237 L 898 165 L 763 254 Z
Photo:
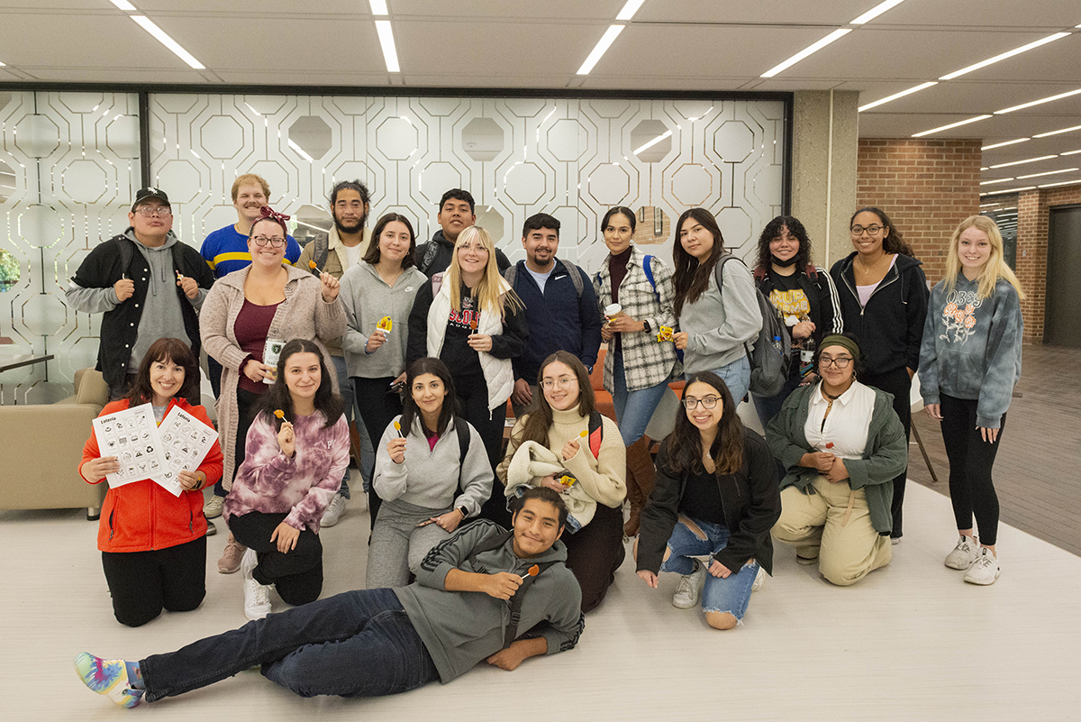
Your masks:
M 923 264 L 898 253 L 893 267 L 863 306 L 852 270 L 855 256 L 853 251 L 838 260 L 829 275 L 841 296 L 844 330 L 859 339 L 865 372 L 878 376 L 903 366 L 917 371 L 931 295 L 920 268 Z

